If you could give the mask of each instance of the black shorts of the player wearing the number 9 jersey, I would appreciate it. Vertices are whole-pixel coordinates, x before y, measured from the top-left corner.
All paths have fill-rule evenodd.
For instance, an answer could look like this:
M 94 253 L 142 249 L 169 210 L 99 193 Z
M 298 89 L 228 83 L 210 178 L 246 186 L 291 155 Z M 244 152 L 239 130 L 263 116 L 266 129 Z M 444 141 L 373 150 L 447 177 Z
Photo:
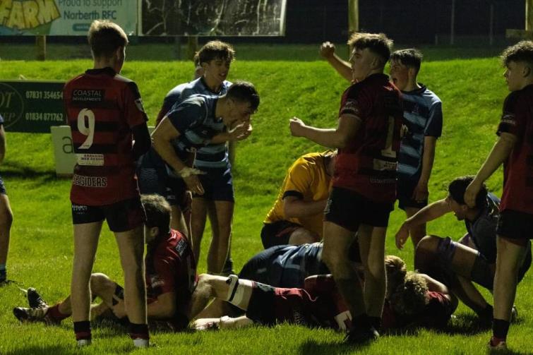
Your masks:
M 84 224 L 107 220 L 112 231 L 130 231 L 146 220 L 140 198 L 124 200 L 112 205 L 87 206 L 72 204 L 73 224 Z

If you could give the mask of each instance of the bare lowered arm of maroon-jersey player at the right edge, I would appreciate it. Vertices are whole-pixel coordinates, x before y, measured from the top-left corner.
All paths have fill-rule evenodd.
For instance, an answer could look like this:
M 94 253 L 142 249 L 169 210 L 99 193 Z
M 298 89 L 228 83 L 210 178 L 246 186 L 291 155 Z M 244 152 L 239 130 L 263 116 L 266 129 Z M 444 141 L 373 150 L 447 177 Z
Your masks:
M 503 162 L 509 157 L 510 152 L 513 150 L 517 137 L 512 133 L 501 132 L 500 138 L 494 144 L 489 157 L 486 158 L 483 165 L 477 172 L 474 180 L 469 184 L 465 191 L 465 203 L 469 207 L 476 205 L 476 195 L 479 189 L 489 177 L 496 172 L 496 169 L 500 167 Z

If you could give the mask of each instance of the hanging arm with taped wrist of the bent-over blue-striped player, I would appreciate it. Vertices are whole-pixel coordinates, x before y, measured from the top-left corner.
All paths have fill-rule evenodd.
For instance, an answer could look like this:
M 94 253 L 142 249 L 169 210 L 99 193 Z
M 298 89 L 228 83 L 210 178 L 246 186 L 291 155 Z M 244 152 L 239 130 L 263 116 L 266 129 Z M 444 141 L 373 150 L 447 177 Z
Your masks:
M 168 116 L 164 116 L 159 126 L 152 133 L 153 147 L 157 154 L 162 157 L 174 172 L 184 179 L 187 188 L 193 193 L 203 194 L 203 187 L 191 168 L 179 159 L 172 146 L 172 140 L 180 136 L 179 131 L 174 127 Z

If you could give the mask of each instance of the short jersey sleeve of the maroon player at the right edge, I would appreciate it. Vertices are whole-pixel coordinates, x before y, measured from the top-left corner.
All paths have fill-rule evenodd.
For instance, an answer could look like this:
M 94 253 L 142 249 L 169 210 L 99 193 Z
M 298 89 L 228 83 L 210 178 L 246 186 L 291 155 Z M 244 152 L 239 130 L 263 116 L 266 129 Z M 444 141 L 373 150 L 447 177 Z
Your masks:
M 510 133 L 522 140 L 526 131 L 527 107 L 524 107 L 518 92 L 511 92 L 503 103 L 503 112 L 496 134 Z

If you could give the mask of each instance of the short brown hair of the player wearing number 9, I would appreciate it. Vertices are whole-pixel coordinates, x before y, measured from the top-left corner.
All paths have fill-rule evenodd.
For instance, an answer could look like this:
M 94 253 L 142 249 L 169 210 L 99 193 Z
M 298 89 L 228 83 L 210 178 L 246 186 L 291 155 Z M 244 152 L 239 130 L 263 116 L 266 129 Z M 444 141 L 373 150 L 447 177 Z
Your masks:
M 116 49 L 126 47 L 128 44 L 128 36 L 124 30 L 108 20 L 92 21 L 87 39 L 95 58 L 110 57 Z

